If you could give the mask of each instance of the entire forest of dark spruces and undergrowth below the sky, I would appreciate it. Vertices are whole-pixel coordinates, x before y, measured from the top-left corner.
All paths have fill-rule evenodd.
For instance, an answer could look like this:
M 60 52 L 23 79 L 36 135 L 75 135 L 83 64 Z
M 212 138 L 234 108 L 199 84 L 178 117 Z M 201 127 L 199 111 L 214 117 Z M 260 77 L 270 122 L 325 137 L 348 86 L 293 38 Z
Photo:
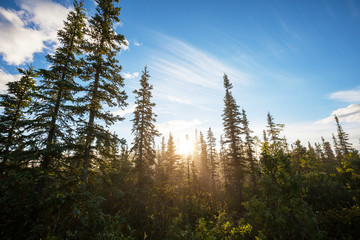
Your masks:
M 126 42 L 119 1 L 95 2 L 88 18 L 74 0 L 50 67 L 19 68 L 0 96 L 1 239 L 360 238 L 360 156 L 336 116 L 332 144 L 289 144 L 270 113 L 259 139 L 225 74 L 223 134 L 195 131 L 181 155 L 171 133 L 156 147 L 145 66 L 133 141 L 112 133 Z

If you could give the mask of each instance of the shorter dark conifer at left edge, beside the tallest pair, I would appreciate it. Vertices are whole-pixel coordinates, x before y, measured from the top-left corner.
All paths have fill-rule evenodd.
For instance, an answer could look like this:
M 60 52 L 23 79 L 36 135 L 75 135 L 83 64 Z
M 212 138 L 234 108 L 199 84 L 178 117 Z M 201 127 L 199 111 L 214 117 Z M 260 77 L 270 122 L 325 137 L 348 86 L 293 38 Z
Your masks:
M 1 94 L 0 107 L 3 108 L 0 116 L 0 159 L 5 164 L 9 153 L 22 149 L 26 125 L 26 110 L 32 103 L 37 74 L 32 66 L 27 69 L 18 68 L 23 76 L 19 81 L 9 82 L 7 93 Z

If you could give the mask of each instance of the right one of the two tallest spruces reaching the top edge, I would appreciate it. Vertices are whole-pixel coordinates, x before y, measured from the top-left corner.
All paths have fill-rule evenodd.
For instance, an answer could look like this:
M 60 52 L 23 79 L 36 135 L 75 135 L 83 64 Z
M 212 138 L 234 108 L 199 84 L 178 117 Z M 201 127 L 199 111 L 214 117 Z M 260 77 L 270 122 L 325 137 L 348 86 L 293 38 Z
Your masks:
M 122 89 L 124 79 L 120 75 L 121 66 L 115 58 L 121 49 L 121 44 L 126 44 L 125 38 L 114 31 L 114 24 L 120 22 L 120 8 L 115 6 L 119 0 L 95 0 L 96 14 L 89 20 L 87 32 L 88 41 L 84 46 L 86 52 L 85 65 L 81 78 L 89 82 L 84 87 L 83 96 L 78 100 L 83 103 L 79 112 L 87 116 L 82 119 L 79 131 L 83 146 L 83 175 L 82 181 L 88 182 L 89 168 L 94 150 L 94 141 L 103 142 L 111 138 L 100 122 L 106 126 L 122 120 L 120 116 L 104 111 L 104 105 L 109 107 L 124 108 L 127 96 Z M 99 120 L 99 121 L 95 121 Z

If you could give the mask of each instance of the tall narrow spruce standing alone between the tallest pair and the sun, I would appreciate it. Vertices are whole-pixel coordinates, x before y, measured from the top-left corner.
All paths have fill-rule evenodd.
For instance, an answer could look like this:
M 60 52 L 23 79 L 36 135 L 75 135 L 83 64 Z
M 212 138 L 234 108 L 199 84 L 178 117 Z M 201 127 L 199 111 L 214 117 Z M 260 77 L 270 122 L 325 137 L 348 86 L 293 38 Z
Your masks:
M 135 171 L 139 188 L 144 188 L 151 181 L 151 166 L 155 164 L 156 152 L 153 148 L 155 137 L 159 132 L 155 129 L 156 115 L 153 112 L 155 103 L 151 102 L 153 86 L 149 84 L 149 72 L 145 67 L 140 79 L 139 90 L 134 90 L 135 111 L 132 134 L 135 135 L 131 152 L 134 154 Z

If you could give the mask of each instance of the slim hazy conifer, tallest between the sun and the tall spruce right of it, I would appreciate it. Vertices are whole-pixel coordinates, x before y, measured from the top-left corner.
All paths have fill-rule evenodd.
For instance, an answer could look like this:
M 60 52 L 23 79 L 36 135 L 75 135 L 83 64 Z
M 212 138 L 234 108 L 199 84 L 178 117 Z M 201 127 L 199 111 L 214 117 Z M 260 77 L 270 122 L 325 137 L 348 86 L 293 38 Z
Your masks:
M 213 131 L 209 128 L 207 132 L 207 146 L 208 146 L 208 157 L 209 157 L 209 173 L 210 173 L 210 188 L 214 194 L 216 189 L 216 181 L 218 177 L 217 169 L 218 162 L 216 156 L 216 139 Z

